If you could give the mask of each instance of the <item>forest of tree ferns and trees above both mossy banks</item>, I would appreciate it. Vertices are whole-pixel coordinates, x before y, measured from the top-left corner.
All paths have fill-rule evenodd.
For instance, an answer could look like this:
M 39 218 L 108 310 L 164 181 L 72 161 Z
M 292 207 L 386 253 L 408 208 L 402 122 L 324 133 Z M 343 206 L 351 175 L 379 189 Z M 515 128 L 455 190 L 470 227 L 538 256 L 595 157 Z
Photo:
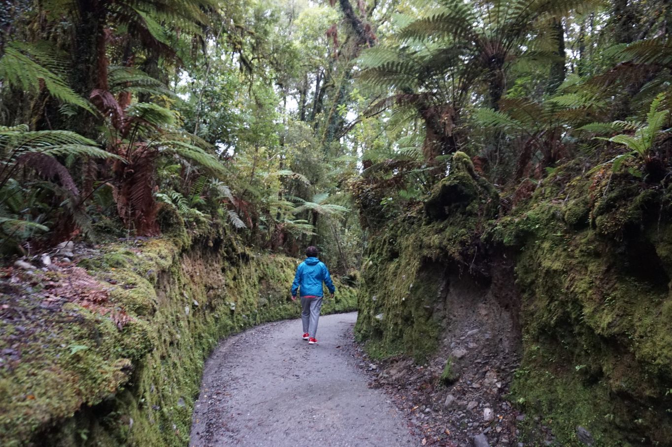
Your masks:
M 668 178 L 663 0 L 0 7 L 5 256 L 216 222 L 345 272 L 458 151 L 500 213 L 561 164 Z

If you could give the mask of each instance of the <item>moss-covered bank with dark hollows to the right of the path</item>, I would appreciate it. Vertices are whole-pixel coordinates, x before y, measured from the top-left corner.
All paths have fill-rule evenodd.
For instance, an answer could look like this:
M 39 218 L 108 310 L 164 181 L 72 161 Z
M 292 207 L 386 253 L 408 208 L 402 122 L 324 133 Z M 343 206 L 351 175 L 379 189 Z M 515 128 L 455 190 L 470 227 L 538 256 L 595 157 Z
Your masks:
M 557 445 L 582 445 L 580 426 L 596 446 L 669 446 L 670 187 L 579 169 L 561 166 L 499 217 L 493 192 L 454 169 L 370 238 L 356 331 L 373 354 L 422 360 L 450 313 L 444 278 L 470 275 L 517 309 L 511 400 L 542 415 Z

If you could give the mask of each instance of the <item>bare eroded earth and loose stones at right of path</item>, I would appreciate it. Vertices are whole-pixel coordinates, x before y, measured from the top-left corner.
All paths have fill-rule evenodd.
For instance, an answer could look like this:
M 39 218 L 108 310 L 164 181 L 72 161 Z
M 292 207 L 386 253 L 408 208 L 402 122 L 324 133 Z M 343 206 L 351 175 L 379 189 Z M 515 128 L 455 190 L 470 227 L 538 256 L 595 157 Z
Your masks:
M 521 447 L 526 439 L 552 444 L 552 435 L 507 401 L 519 364 L 520 336 L 512 311 L 489 289 L 466 278 L 450 278 L 442 306 L 446 321 L 437 353 L 422 364 L 396 356 L 370 358 L 354 341 L 349 354 L 386 391 L 422 434 L 423 445 Z M 452 377 L 441 380 L 450 359 Z

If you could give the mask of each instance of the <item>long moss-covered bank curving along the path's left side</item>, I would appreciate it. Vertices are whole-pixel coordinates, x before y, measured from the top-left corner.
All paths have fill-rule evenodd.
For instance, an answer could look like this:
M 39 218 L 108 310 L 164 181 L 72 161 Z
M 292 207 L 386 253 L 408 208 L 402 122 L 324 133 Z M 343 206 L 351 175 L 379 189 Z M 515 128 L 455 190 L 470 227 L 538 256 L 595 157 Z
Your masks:
M 0 329 L 0 444 L 187 445 L 206 356 L 233 332 L 298 315 L 288 300 L 297 262 L 225 234 L 181 234 L 81 260 L 91 299 L 45 294 L 63 295 L 73 270 L 24 274 L 30 289 L 2 295 L 16 312 Z M 353 289 L 336 283 L 323 309 L 353 309 Z

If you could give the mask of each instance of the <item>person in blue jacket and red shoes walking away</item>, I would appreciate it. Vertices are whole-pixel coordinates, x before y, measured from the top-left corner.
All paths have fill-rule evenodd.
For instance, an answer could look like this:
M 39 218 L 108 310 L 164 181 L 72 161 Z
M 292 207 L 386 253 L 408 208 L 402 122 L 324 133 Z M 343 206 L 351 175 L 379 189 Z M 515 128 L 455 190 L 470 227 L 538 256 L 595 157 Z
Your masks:
M 296 267 L 294 283 L 292 283 L 292 300 L 296 301 L 296 292 L 301 297 L 301 322 L 303 324 L 304 340 L 308 344 L 317 343 L 317 320 L 320 318 L 322 308 L 323 288 L 322 283 L 327 285 L 331 298 L 334 297 L 335 288 L 331 282 L 329 268 L 317 258 L 319 252 L 314 246 L 306 248 L 306 260 Z

